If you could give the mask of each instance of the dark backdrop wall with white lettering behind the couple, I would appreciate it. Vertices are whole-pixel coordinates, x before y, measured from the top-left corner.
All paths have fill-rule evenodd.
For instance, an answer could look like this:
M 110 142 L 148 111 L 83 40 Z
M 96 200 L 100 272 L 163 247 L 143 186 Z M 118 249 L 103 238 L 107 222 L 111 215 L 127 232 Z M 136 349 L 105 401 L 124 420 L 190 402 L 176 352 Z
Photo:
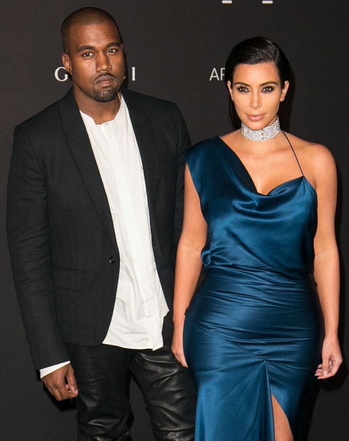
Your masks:
M 73 441 L 74 403 L 56 403 L 31 365 L 7 254 L 5 200 L 13 127 L 71 86 L 61 63 L 60 24 L 73 10 L 97 6 L 119 24 L 127 86 L 175 101 L 192 143 L 231 131 L 224 64 L 231 47 L 267 36 L 285 51 L 291 87 L 285 130 L 322 144 L 338 164 L 337 232 L 342 264 L 340 339 L 349 356 L 346 276 L 349 269 L 349 35 L 347 1 L 326 0 L 11 0 L 1 5 L 1 382 L 0 438 Z M 43 127 L 44 130 L 44 127 Z M 287 167 L 288 164 L 285 164 Z M 349 439 L 349 381 L 314 382 L 304 440 Z M 131 382 L 133 441 L 153 440 L 145 405 Z M 212 440 L 213 441 L 213 440 Z M 253 440 L 251 440 L 253 441 Z

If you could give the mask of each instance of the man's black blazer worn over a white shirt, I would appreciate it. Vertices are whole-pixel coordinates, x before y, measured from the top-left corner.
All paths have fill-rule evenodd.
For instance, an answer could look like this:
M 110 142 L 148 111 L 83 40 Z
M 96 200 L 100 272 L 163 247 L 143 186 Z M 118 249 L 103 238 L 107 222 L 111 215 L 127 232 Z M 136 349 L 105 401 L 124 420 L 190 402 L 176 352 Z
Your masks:
M 152 242 L 169 308 L 188 137 L 174 103 L 122 90 L 139 145 Z M 7 237 L 36 369 L 68 360 L 64 341 L 102 343 L 119 251 L 108 200 L 72 90 L 14 130 Z

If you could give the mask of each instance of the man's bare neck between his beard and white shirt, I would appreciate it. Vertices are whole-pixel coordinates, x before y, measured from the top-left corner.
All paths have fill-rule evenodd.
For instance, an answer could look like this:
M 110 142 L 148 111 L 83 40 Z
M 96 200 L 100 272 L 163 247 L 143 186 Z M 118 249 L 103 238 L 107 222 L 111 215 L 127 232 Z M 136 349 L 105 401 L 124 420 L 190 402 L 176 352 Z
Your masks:
M 104 122 L 111 121 L 115 118 L 115 115 L 120 109 L 120 92 L 112 101 L 98 102 L 92 98 L 82 95 L 79 92 L 76 93 L 75 90 L 73 91 L 79 110 L 93 118 L 96 124 L 103 124 Z

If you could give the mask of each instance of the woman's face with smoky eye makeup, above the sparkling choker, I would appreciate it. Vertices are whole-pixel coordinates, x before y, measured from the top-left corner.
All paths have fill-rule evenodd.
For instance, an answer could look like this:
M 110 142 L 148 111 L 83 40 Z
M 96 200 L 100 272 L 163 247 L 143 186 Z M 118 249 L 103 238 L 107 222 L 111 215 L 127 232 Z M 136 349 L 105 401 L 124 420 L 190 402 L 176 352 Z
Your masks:
M 227 85 L 241 121 L 252 130 L 260 130 L 276 120 L 289 82 L 285 81 L 282 88 L 275 64 L 267 62 L 238 64 Z

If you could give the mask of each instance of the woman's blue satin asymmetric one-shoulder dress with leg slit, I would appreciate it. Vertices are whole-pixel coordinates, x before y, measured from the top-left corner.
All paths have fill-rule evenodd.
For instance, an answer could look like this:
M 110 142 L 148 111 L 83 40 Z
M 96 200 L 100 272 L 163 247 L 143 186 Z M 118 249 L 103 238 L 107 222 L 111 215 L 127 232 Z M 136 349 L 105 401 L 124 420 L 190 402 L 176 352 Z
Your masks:
M 218 137 L 196 144 L 187 164 L 207 222 L 184 324 L 198 389 L 195 441 L 273 441 L 271 395 L 297 441 L 323 338 L 316 191 L 300 167 L 301 176 L 258 193 Z

